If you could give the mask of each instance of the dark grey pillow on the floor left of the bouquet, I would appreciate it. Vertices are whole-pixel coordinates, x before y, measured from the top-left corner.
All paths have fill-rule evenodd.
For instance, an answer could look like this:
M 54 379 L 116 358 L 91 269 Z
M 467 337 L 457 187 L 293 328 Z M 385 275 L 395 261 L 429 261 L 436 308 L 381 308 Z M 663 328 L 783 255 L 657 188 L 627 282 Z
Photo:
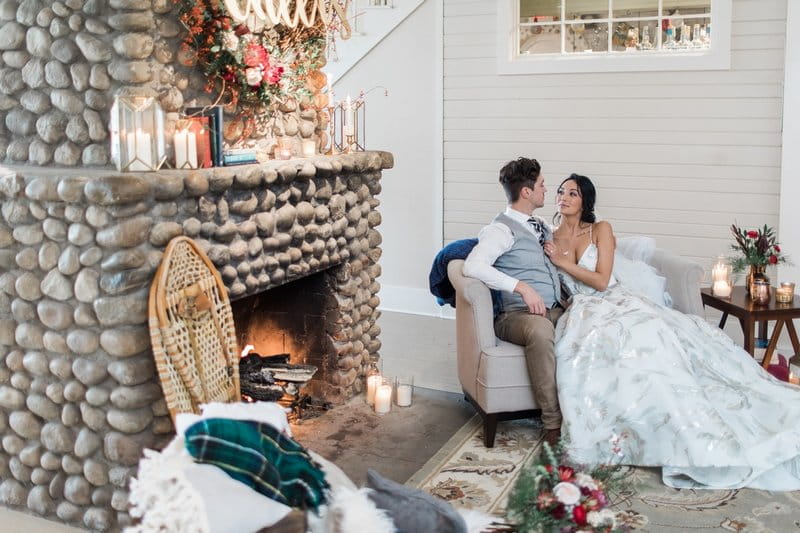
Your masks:
M 403 533 L 466 533 L 467 524 L 453 506 L 419 489 L 412 489 L 367 471 L 369 497 L 386 511 Z

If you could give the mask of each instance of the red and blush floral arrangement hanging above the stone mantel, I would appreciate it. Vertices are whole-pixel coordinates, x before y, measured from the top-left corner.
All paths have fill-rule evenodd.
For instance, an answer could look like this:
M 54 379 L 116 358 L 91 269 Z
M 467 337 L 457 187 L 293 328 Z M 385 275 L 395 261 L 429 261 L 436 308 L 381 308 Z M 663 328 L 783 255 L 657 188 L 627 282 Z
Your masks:
M 206 91 L 221 91 L 225 105 L 254 115 L 289 99 L 301 101 L 324 85 L 327 28 L 267 27 L 255 17 L 237 22 L 223 0 L 176 0 L 188 33 L 183 52 L 194 54 L 208 77 Z M 309 83 L 309 78 L 313 78 Z M 221 87 L 221 89 L 219 89 Z

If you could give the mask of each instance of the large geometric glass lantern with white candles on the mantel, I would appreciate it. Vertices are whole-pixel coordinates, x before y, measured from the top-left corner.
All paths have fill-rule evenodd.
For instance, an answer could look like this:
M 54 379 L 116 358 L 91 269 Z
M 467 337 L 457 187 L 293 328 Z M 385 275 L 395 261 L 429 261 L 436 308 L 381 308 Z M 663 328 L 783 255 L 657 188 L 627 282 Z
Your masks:
M 111 159 L 122 172 L 158 170 L 166 160 L 164 111 L 154 91 L 127 89 L 111 107 Z

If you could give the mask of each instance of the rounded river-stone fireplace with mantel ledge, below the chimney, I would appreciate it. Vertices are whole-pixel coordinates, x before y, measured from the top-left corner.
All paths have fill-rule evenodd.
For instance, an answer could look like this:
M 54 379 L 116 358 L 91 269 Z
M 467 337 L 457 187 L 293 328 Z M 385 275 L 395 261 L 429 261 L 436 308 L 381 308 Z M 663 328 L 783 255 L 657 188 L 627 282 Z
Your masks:
M 207 252 L 238 314 L 267 302 L 265 322 L 294 312 L 301 331 L 325 314 L 302 354 L 321 370 L 312 388 L 333 402 L 358 393 L 380 348 L 376 207 L 392 166 L 391 154 L 361 152 L 149 174 L 4 171 L 0 503 L 95 530 L 130 522 L 142 450 L 173 433 L 146 323 L 177 235 Z M 294 310 L 270 307 L 287 299 Z M 269 350 L 284 342 L 252 336 Z M 285 346 L 299 356 L 297 338 Z

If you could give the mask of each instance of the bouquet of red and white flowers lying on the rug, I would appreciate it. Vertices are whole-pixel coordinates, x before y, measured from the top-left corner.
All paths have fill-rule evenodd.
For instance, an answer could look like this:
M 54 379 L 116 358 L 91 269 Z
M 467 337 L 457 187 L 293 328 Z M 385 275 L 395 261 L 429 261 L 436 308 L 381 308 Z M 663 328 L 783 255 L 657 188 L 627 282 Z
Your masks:
M 539 459 L 520 472 L 508 500 L 508 518 L 517 531 L 624 531 L 609 508 L 609 494 L 622 490 L 619 467 L 580 472 L 558 461 L 559 453 L 545 443 Z

